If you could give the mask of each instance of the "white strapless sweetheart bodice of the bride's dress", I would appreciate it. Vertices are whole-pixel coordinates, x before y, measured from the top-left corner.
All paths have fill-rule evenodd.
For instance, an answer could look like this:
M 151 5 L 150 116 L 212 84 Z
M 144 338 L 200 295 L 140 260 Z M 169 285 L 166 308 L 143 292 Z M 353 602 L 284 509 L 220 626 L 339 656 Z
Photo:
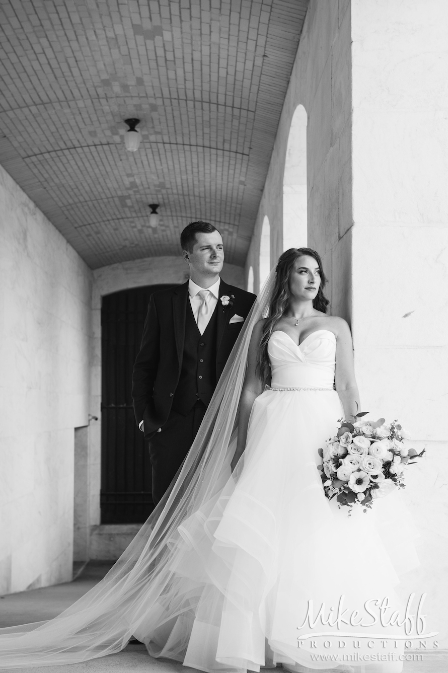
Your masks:
M 315 330 L 297 344 L 282 330 L 274 330 L 268 343 L 274 388 L 333 388 L 336 336 Z

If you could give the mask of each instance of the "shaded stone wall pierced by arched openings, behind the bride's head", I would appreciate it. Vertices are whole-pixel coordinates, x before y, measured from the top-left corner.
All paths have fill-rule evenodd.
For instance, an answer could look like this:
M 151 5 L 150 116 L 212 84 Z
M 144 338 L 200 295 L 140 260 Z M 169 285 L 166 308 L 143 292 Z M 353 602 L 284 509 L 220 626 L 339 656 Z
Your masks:
M 271 229 L 271 267 L 284 250 L 283 174 L 291 121 L 307 112 L 308 241 L 324 259 L 334 312 L 350 317 L 351 73 L 350 3 L 311 0 L 246 261 L 258 291 L 262 222 Z M 290 153 L 293 151 L 291 143 Z M 301 240 L 297 245 L 303 244 Z M 290 240 L 289 240 L 290 243 Z

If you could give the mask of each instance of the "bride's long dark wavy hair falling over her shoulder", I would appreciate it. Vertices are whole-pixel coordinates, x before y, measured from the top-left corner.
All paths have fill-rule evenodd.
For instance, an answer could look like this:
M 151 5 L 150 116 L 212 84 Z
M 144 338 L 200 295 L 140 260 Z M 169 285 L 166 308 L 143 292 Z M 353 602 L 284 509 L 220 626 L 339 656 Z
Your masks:
M 270 382 L 270 365 L 268 357 L 268 341 L 270 335 L 278 320 L 283 316 L 289 306 L 289 277 L 293 271 L 295 261 L 302 255 L 309 255 L 318 262 L 320 272 L 320 286 L 317 295 L 313 299 L 313 308 L 323 313 L 327 312 L 327 307 L 330 302 L 324 295 L 324 287 L 327 279 L 322 268 L 322 260 L 320 254 L 311 248 L 289 248 L 281 254 L 276 265 L 276 278 L 274 287 L 272 289 L 272 297 L 269 304 L 268 317 L 263 326 L 262 339 L 260 341 L 260 348 L 258 349 L 258 365 L 260 367 L 260 379 L 263 386 Z

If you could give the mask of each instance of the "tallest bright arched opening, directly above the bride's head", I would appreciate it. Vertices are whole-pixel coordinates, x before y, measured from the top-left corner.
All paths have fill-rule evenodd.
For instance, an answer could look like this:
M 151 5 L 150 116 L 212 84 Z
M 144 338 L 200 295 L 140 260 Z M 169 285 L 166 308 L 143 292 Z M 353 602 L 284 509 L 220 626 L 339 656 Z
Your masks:
M 307 246 L 307 113 L 297 106 L 283 175 L 283 250 Z

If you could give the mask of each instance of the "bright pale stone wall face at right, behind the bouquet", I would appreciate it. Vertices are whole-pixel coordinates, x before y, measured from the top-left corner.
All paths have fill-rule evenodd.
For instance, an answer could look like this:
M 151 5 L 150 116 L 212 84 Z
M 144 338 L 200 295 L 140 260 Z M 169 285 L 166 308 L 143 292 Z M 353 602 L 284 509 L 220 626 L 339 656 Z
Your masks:
M 406 488 L 421 565 L 402 592 L 428 594 L 448 647 L 448 6 L 420 10 L 352 0 L 352 334 L 363 408 L 426 446 Z

